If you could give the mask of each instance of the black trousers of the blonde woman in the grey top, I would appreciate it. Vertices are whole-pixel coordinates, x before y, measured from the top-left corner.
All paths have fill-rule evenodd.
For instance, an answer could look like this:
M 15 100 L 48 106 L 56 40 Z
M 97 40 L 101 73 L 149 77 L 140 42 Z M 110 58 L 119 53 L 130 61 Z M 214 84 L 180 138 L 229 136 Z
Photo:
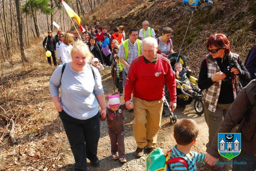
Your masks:
M 92 118 L 79 120 L 69 116 L 64 110 L 59 112 L 72 153 L 75 171 L 87 171 L 86 158 L 96 161 L 99 141 L 99 112 Z

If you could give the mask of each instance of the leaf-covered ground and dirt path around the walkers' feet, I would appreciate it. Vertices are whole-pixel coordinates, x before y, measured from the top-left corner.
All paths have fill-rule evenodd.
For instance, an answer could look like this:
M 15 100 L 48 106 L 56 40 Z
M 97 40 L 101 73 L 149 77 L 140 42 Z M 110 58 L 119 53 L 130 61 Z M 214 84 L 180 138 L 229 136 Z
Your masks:
M 49 80 L 55 67 L 47 64 L 45 51 L 41 48 L 42 41 L 42 38 L 35 40 L 26 50 L 29 64 L 22 64 L 18 55 L 12 58 L 13 67 L 8 61 L 4 64 L 6 75 L 10 75 L 6 76 L 6 81 L 0 82 L 4 90 L 1 92 L 0 105 L 15 120 L 14 134 L 18 143 L 12 143 L 8 136 L 6 126 L 8 122 L 4 119 L 0 120 L 0 170 L 71 171 L 74 167 L 74 157 L 49 92 Z M 24 72 L 24 70 L 30 72 Z M 110 68 L 101 72 L 106 101 L 108 101 L 107 96 L 114 93 L 110 72 Z M 168 113 L 168 110 L 165 111 Z M 186 106 L 177 106 L 174 114 L 178 119 L 190 118 L 196 121 L 200 132 L 192 150 L 205 153 L 208 127 L 204 116 L 195 112 L 193 102 Z M 121 164 L 111 159 L 107 124 L 106 121 L 100 122 L 98 143 L 100 166 L 94 168 L 88 160 L 88 170 L 145 170 L 145 159 L 148 155 L 146 150 L 141 158 L 135 157 L 137 145 L 132 129 L 133 112 L 125 111 L 124 118 L 127 162 Z M 163 118 L 156 147 L 166 152 L 175 144 L 173 124 L 170 123 L 169 117 Z M 197 163 L 197 168 L 201 171 L 212 170 L 211 167 L 202 163 Z M 225 170 L 231 170 L 231 166 L 225 166 Z

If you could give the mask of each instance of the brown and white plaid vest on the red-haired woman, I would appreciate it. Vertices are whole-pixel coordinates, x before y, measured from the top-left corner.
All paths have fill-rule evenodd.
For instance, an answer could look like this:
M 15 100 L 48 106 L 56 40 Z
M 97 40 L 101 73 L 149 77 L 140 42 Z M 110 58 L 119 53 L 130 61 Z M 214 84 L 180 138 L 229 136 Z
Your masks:
M 238 54 L 230 52 L 227 57 L 228 57 L 228 61 L 230 61 L 230 59 L 232 59 L 233 57 L 238 58 Z M 217 64 L 217 61 L 213 59 L 210 54 L 206 56 L 206 63 L 207 63 L 207 70 L 208 70 L 207 71 L 208 78 L 211 78 L 216 72 L 221 71 L 220 67 Z M 239 81 L 240 81 L 240 78 L 239 76 L 236 75 L 234 82 L 236 83 L 237 93 L 242 89 L 242 86 Z M 204 89 L 202 92 L 203 101 L 209 104 L 208 109 L 211 112 L 216 111 L 216 106 L 217 106 L 220 91 L 221 91 L 221 83 L 222 83 L 222 80 L 216 81 L 215 83 L 213 83 L 213 85 L 211 85 L 209 88 Z

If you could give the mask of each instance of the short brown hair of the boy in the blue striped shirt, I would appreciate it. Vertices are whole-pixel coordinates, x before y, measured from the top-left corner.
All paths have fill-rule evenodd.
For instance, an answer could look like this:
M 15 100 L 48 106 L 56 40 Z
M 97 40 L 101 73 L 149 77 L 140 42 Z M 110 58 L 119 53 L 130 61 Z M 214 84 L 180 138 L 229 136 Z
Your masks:
M 181 119 L 174 124 L 174 139 L 177 144 L 187 145 L 198 136 L 198 125 L 192 119 Z

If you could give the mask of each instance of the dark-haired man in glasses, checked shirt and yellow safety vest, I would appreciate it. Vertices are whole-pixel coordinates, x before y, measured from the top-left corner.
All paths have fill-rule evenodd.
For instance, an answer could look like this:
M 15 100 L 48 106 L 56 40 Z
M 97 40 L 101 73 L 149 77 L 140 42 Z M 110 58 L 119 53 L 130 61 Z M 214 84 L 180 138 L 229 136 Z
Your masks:
M 138 30 L 131 28 L 129 30 L 129 39 L 121 43 L 117 56 L 120 58 L 119 66 L 123 72 L 123 80 L 128 73 L 132 61 L 142 54 L 142 41 L 138 39 Z

